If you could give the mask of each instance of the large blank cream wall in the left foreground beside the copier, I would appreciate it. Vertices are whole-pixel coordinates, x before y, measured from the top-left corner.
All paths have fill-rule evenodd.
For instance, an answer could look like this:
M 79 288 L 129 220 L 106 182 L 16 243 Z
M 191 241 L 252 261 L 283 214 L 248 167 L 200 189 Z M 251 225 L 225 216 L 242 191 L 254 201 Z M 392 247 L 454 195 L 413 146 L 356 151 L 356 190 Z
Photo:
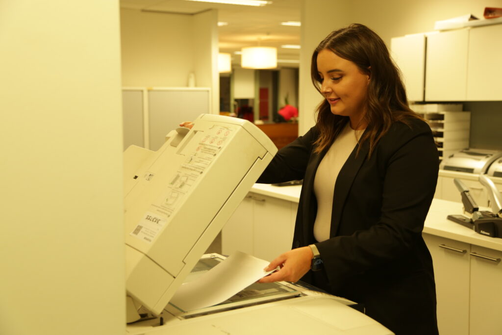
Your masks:
M 123 334 L 118 2 L 0 2 L 0 333 Z

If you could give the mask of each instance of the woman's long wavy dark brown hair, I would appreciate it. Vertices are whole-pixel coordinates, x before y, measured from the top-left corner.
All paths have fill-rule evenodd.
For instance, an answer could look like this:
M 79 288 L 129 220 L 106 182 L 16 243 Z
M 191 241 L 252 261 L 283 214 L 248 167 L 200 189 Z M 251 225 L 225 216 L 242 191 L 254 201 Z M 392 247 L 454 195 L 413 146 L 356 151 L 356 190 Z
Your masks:
M 392 123 L 407 123 L 407 119 L 422 119 L 408 106 L 401 72 L 392 61 L 384 41 L 371 29 L 361 24 L 351 24 L 335 30 L 319 43 L 312 54 L 311 77 L 321 92 L 322 79 L 317 70 L 317 55 L 328 49 L 337 56 L 353 62 L 359 70 L 369 75 L 363 121 L 366 131 L 359 140 L 369 141 L 369 155 L 376 143 L 387 133 Z M 348 117 L 334 115 L 326 99 L 316 109 L 316 127 L 320 136 L 315 142 L 315 152 L 328 148 L 348 122 Z

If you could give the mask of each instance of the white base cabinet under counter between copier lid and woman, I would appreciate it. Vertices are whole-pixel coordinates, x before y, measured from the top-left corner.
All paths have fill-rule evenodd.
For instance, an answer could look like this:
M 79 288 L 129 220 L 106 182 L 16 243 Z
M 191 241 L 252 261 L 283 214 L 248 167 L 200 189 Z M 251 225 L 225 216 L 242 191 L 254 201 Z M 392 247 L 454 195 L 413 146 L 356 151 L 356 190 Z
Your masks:
M 221 233 L 221 252 L 239 250 L 272 261 L 291 250 L 298 204 L 276 197 L 248 193 Z

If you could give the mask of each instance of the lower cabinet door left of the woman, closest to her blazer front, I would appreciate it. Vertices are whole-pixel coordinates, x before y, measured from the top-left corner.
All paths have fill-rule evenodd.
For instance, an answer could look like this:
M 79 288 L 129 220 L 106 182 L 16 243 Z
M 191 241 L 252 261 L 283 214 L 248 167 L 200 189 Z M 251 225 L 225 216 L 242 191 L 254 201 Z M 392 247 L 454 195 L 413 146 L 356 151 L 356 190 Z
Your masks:
M 263 195 L 256 195 L 254 199 L 254 256 L 272 261 L 291 250 L 292 202 Z

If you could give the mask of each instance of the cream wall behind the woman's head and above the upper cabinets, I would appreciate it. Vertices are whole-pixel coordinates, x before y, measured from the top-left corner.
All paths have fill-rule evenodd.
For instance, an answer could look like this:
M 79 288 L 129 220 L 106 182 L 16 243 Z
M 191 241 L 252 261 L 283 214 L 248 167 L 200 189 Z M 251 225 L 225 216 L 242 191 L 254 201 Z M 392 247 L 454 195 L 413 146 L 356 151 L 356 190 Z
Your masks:
M 502 8 L 502 0 L 303 0 L 300 52 L 299 134 L 314 125 L 313 111 L 322 100 L 310 80 L 310 59 L 319 42 L 331 31 L 361 23 L 390 46 L 391 38 L 434 30 L 434 23 L 465 14 L 483 18 L 484 7 Z

